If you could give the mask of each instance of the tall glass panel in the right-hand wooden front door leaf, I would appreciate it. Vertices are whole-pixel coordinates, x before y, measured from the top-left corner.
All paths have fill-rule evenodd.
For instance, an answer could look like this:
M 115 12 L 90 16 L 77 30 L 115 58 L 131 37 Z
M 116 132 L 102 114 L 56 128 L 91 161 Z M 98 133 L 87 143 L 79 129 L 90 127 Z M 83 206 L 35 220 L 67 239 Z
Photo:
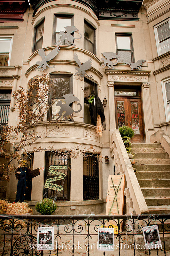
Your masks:
M 132 115 L 132 129 L 134 130 L 135 134 L 140 134 L 138 103 L 132 102 L 132 101 L 130 103 L 131 103 L 131 115 Z

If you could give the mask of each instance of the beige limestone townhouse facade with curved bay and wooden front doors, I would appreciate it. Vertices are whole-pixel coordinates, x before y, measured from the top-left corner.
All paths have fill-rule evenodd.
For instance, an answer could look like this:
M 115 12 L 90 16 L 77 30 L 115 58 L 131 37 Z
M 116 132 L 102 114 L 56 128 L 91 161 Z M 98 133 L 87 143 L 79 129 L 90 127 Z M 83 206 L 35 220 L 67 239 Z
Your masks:
M 108 175 L 114 174 L 114 158 L 110 154 L 113 131 L 122 125 L 132 127 L 136 143 L 149 143 L 150 136 L 158 130 L 170 136 L 170 2 L 32 0 L 29 3 L 13 0 L 11 5 L 4 1 L 1 6 L 1 109 L 7 106 L 9 112 L 7 119 L 2 112 L 1 124 L 17 124 L 18 113 L 13 107 L 12 93 L 19 86 L 27 89 L 31 79 L 43 74 L 36 64 L 42 61 L 39 50 L 43 48 L 47 56 L 62 39 L 64 34 L 60 31 L 64 31 L 64 27 L 77 28 L 70 34 L 75 38 L 72 44 L 67 44 L 65 39 L 60 44 L 60 52 L 47 61 L 50 67 L 55 67 L 47 66 L 44 72 L 61 86 L 61 92 L 65 84 L 64 91 L 73 93 L 82 109 L 74 113 L 74 121 L 61 121 L 58 127 L 51 116 L 58 111 L 55 102 L 50 117 L 34 127 L 42 131 L 43 136 L 28 148 L 28 152 L 33 146 L 53 146 L 61 153 L 56 155 L 51 150 L 44 150 L 32 155 L 32 167 L 41 165 L 45 171 L 32 180 L 26 199 L 30 205 L 35 205 L 42 198 L 53 198 L 58 204 L 58 214 L 104 212 Z M 114 55 L 109 59 L 106 53 L 119 57 Z M 74 54 L 81 65 L 89 59 L 92 61 L 84 77 L 75 75 L 78 64 Z M 130 66 L 137 61 L 135 68 Z M 104 63 L 108 66 L 102 65 Z M 96 126 L 89 118 L 89 103 L 81 88 L 89 94 L 93 90 L 102 103 L 104 98 L 107 100 L 104 107 L 106 130 L 102 137 L 96 136 Z M 56 99 L 62 96 L 61 93 Z M 72 107 L 79 110 L 77 102 L 73 102 Z M 105 164 L 104 158 L 98 161 L 94 155 L 88 156 L 88 162 L 83 160 L 83 155 L 67 157 L 64 149 L 71 151 L 79 145 L 101 151 L 104 158 L 108 156 L 109 163 Z M 49 192 L 44 188 L 48 167 L 59 162 L 67 166 L 67 178 L 61 183 L 64 190 Z M 12 174 L 7 184 L 7 199 L 14 201 L 16 187 L 17 180 Z

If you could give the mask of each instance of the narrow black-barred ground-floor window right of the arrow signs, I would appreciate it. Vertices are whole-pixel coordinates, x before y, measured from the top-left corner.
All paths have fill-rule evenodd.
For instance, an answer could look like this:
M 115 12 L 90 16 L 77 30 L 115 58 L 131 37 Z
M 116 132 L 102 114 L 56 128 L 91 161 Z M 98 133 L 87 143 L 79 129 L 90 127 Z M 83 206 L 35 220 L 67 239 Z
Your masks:
M 83 200 L 99 199 L 98 158 L 94 155 L 83 156 Z

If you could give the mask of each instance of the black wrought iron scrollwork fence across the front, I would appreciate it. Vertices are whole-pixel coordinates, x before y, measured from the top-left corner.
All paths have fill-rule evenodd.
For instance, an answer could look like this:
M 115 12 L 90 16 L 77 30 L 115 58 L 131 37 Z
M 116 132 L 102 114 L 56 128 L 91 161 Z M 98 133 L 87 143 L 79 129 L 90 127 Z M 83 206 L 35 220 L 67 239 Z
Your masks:
M 107 255 L 169 255 L 170 214 L 153 215 L 0 215 L 0 255 L 105 255 L 97 251 L 98 228 L 118 226 L 114 252 Z M 121 224 L 123 228 L 121 230 Z M 158 225 L 161 249 L 147 250 L 143 226 Z M 54 227 L 54 250 L 37 251 L 37 228 Z M 142 255 L 142 254 L 140 254 Z

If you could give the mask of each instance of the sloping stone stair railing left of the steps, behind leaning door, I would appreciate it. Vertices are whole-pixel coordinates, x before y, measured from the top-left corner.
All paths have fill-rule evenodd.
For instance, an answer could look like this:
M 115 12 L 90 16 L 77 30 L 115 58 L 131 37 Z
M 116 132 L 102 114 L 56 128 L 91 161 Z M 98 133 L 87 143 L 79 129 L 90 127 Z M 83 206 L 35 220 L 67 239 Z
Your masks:
M 111 156 L 114 157 L 115 174 L 125 174 L 126 213 L 148 214 L 148 207 L 130 162 L 128 153 L 120 136 L 119 130 L 112 134 Z M 133 205 L 132 205 L 133 202 Z M 134 210 L 133 210 L 134 209 Z

